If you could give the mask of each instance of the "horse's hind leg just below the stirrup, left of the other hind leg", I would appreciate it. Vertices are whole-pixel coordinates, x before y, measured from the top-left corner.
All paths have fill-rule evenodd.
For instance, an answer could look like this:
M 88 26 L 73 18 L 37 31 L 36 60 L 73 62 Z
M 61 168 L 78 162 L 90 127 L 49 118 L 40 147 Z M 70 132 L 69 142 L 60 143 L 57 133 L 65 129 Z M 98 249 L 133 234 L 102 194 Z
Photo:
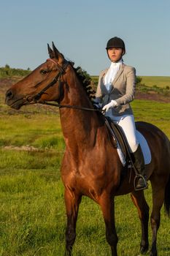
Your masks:
M 139 219 L 142 225 L 142 239 L 140 244 L 140 252 L 144 254 L 147 252 L 149 247 L 148 241 L 148 221 L 149 221 L 149 206 L 144 198 L 144 192 L 132 192 L 131 193 L 131 200 L 133 201 L 134 205 L 136 206 L 139 214 Z

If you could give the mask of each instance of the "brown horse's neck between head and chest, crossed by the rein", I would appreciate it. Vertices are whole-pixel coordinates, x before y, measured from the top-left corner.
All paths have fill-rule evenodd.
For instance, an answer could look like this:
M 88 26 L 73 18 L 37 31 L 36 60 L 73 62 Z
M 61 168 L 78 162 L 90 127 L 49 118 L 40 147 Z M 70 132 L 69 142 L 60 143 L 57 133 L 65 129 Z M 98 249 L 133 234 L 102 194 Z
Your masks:
M 69 91 L 65 92 L 66 95 L 64 95 L 61 104 L 92 108 L 90 99 L 76 75 L 70 74 L 67 83 Z M 91 148 L 96 140 L 99 123 L 96 113 L 88 110 L 61 108 L 60 114 L 66 146 L 74 148 L 76 151 Z

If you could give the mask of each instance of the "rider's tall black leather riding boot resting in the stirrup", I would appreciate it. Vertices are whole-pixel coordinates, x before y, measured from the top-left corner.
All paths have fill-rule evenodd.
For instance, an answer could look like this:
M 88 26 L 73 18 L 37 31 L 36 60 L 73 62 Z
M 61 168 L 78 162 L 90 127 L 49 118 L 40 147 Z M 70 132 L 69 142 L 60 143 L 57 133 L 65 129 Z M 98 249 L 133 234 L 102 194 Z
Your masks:
M 139 176 L 136 176 L 135 178 L 135 189 L 147 189 L 147 181 L 146 181 L 146 173 L 145 173 L 145 167 L 144 167 L 144 156 L 142 153 L 142 148 L 139 144 L 136 151 L 133 153 L 133 159 L 134 159 L 134 166 L 136 167 L 137 172 L 139 173 Z

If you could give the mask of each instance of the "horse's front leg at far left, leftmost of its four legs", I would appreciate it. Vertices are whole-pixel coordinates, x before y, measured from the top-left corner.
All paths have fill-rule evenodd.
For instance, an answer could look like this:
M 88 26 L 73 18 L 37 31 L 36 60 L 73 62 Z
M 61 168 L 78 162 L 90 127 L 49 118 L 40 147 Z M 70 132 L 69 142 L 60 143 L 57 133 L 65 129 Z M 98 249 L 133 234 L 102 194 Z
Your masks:
M 66 204 L 66 256 L 72 255 L 72 246 L 76 238 L 76 222 L 77 214 L 81 201 L 81 195 L 77 195 L 71 189 L 65 189 L 65 204 Z

